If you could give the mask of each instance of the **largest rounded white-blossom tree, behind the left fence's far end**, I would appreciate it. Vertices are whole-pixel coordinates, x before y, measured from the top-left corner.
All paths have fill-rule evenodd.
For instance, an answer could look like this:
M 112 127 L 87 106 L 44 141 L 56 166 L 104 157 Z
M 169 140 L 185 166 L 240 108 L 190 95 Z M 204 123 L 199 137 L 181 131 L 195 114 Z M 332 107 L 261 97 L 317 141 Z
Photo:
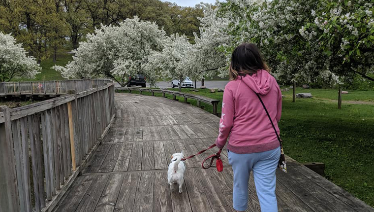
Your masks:
M 74 51 L 73 61 L 66 67 L 54 66 L 65 78 L 110 77 L 122 86 L 129 75 L 144 74 L 151 84 L 156 82 L 156 71 L 148 66 L 149 57 L 162 51 L 170 42 L 156 23 L 138 17 L 126 19 L 120 26 L 101 26 L 87 35 Z

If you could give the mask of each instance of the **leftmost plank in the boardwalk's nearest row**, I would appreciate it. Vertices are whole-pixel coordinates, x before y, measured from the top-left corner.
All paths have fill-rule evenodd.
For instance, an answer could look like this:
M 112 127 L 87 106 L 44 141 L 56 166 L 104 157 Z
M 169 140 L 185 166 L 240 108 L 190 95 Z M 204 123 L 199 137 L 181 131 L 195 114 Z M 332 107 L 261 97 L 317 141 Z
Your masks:
M 97 176 L 91 175 L 77 177 L 70 191 L 59 204 L 55 212 L 75 212 L 90 185 L 96 180 Z

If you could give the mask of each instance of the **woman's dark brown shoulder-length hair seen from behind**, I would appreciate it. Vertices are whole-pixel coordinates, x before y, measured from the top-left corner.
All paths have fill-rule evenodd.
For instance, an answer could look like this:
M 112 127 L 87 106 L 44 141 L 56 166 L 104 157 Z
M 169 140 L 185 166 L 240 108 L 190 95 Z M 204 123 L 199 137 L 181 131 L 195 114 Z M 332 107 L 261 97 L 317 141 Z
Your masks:
M 230 80 L 235 80 L 238 75 L 251 75 L 258 70 L 270 71 L 257 46 L 253 43 L 242 43 L 236 47 L 231 55 Z

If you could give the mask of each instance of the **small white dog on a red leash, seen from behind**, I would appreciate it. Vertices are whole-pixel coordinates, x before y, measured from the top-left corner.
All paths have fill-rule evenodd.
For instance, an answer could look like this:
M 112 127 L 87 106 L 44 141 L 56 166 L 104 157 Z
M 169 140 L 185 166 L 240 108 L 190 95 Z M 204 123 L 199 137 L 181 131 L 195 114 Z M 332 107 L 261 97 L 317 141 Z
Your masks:
M 182 193 L 183 177 L 185 175 L 186 167 L 185 163 L 181 161 L 183 158 L 183 152 L 174 153 L 171 156 L 171 162 L 169 164 L 169 170 L 167 171 L 167 180 L 170 184 L 170 189 L 173 184 L 179 184 L 179 193 Z

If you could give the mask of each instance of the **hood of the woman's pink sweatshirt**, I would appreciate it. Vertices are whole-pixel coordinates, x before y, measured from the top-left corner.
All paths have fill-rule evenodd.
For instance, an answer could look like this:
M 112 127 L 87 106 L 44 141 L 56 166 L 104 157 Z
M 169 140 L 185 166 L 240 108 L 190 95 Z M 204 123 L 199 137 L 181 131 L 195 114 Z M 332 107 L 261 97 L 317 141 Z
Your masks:
M 272 89 L 275 78 L 265 70 L 252 75 L 241 76 L 240 79 L 255 93 L 265 96 Z

